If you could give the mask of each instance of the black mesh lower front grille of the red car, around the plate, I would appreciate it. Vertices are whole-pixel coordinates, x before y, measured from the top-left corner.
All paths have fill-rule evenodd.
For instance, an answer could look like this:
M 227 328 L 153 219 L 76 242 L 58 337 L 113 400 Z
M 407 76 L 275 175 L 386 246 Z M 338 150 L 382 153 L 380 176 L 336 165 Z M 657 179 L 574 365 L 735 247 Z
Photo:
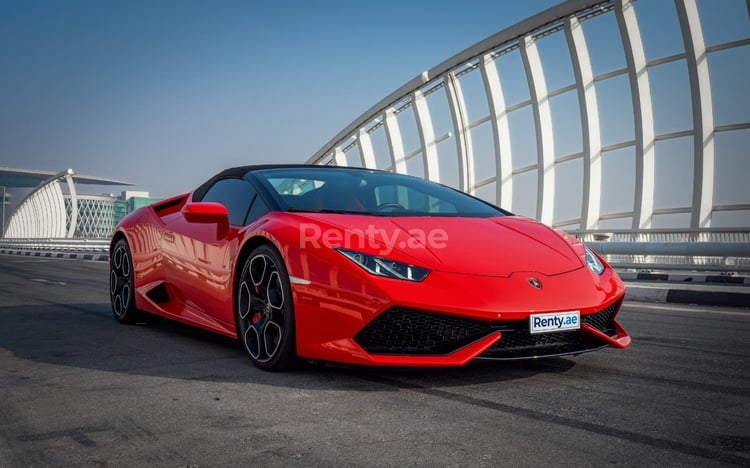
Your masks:
M 615 336 L 614 316 L 620 303 L 584 315 L 581 322 Z M 528 320 L 485 322 L 402 307 L 393 307 L 377 316 L 354 341 L 370 354 L 445 355 L 495 331 L 502 332 L 502 337 L 480 357 L 520 359 L 576 354 L 606 345 L 578 330 L 532 335 Z

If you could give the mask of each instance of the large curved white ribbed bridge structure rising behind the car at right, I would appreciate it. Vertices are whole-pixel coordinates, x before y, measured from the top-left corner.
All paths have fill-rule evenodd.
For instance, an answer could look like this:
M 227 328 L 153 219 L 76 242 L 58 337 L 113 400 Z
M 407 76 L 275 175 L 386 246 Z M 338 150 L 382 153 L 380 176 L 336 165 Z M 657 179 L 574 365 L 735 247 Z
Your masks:
M 425 177 L 566 229 L 641 230 L 676 220 L 681 228 L 700 230 L 715 226 L 718 217 L 737 223 L 732 227 L 747 227 L 750 197 L 737 195 L 739 188 L 726 196 L 716 168 L 717 141 L 750 144 L 750 119 L 744 117 L 747 113 L 739 119 L 732 116 L 729 123 L 715 117 L 714 94 L 722 90 L 712 79 L 721 73 L 712 67 L 731 54 L 743 62 L 750 35 L 745 31 L 744 37 L 709 45 L 697 0 L 660 3 L 671 8 L 663 18 L 654 15 L 653 3 L 645 0 L 562 2 L 407 82 L 344 128 L 308 163 Z M 736 14 L 748 14 L 746 2 L 712 3 L 710 8 L 732 5 Z M 682 51 L 649 56 L 661 36 L 644 43 L 644 23 L 658 23 L 661 35 L 670 21 L 676 31 L 673 50 Z M 606 37 L 601 37 L 602 30 Z M 595 71 L 592 50 L 601 51 L 601 43 L 606 43 L 604 55 L 624 56 L 621 65 Z M 550 44 L 553 52 L 545 56 L 542 48 L 549 50 Z M 651 49 L 645 47 L 649 45 Z M 600 63 L 606 61 L 598 53 Z M 513 60 L 519 64 L 515 69 L 506 65 Z M 572 68 L 567 83 L 550 72 L 559 68 L 559 61 Z M 666 86 L 655 87 L 655 79 L 665 76 L 667 68 L 670 73 L 683 69 L 685 76 L 675 75 Z M 680 80 L 688 91 L 681 96 L 684 110 L 680 107 L 678 117 L 680 125 L 683 120 L 687 124 L 667 125 L 665 131 L 660 122 L 679 112 L 665 108 L 663 96 L 672 94 L 670 88 L 679 87 Z M 527 98 L 507 102 L 518 89 Z M 619 125 L 612 125 L 611 117 L 604 122 L 602 114 L 611 115 L 613 108 L 620 114 Z M 689 117 L 682 118 L 685 114 Z M 627 134 L 627 127 L 632 128 L 629 135 L 608 136 Z M 522 133 L 530 134 L 530 143 L 518 144 Z M 559 140 L 565 138 L 579 146 L 572 151 L 560 148 L 564 145 Z M 724 174 L 743 172 L 747 166 L 736 148 L 722 159 Z M 613 193 L 623 201 L 612 203 Z

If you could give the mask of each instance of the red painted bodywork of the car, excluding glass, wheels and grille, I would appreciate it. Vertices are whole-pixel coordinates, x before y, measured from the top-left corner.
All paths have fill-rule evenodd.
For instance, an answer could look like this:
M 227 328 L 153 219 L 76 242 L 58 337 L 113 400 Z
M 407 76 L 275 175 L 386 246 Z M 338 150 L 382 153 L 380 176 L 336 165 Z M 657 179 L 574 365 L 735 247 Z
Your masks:
M 355 336 L 393 307 L 495 325 L 523 324 L 533 313 L 564 311 L 580 311 L 583 321 L 609 306 L 619 308 L 625 294 L 622 281 L 604 260 L 600 259 L 605 267 L 601 275 L 587 268 L 580 242 L 522 217 L 271 211 L 247 226 L 234 226 L 222 221 L 224 206 L 191 200 L 192 194 L 186 194 L 142 208 L 117 227 L 113 240 L 125 238 L 132 251 L 136 307 L 237 338 L 241 252 L 248 245 L 267 243 L 280 253 L 294 278 L 296 352 L 303 358 L 364 365 L 461 366 L 482 358 L 507 332 L 500 327 L 459 349 L 427 355 L 370 353 Z M 388 252 L 389 259 L 431 272 L 421 282 L 370 274 L 334 250 L 336 245 L 315 245 L 306 239 L 305 229 L 307 233 L 319 229 L 333 241 L 347 239 L 365 254 Z M 412 239 L 409 233 L 415 229 L 442 230 L 445 245 L 434 248 Z M 381 235 L 366 238 L 368 232 Z M 538 280 L 541 288 L 534 287 L 531 279 Z M 157 287 L 166 288 L 169 301 L 149 297 Z M 575 333 L 601 346 L 624 348 L 630 337 L 614 319 L 616 313 L 611 320 L 614 331 L 583 323 Z

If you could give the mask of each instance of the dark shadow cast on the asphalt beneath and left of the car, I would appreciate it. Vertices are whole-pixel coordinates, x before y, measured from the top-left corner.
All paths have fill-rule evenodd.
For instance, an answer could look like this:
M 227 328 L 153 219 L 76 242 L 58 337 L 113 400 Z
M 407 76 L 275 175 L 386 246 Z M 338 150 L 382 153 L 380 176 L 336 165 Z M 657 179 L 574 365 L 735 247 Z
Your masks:
M 476 362 L 461 368 L 362 367 L 301 361 L 273 373 L 255 368 L 236 340 L 166 319 L 121 325 L 109 304 L 0 307 L 0 362 L 14 373 L 23 363 L 172 379 L 262 383 L 301 389 L 383 391 L 417 386 L 458 387 L 564 373 L 572 358 Z M 1 351 L 0 351 L 1 352 Z M 4 355 L 4 356 L 3 356 Z M 408 382 L 408 383 L 407 383 Z

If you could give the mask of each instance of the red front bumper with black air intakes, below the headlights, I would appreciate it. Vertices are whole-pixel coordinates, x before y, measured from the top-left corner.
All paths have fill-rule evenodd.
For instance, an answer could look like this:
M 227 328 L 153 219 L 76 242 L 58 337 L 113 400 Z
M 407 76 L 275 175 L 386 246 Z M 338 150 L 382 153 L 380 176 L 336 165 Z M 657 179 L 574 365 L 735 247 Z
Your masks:
M 331 283 L 295 284 L 297 352 L 322 361 L 382 366 L 461 366 L 623 348 L 615 320 L 625 288 L 609 269 L 508 278 L 433 272 L 422 283 L 332 272 Z M 366 275 L 366 274 L 365 274 Z M 528 278 L 543 283 L 537 289 Z M 529 315 L 580 311 L 580 329 L 530 334 Z

